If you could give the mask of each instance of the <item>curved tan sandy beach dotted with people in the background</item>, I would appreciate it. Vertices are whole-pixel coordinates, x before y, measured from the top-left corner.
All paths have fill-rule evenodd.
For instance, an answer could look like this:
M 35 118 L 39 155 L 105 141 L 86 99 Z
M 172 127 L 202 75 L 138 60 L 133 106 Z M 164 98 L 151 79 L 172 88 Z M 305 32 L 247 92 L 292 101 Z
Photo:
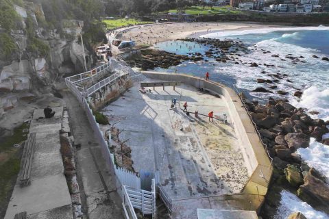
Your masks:
M 158 25 L 141 25 L 140 27 L 128 28 L 122 31 L 122 38 L 134 40 L 136 44 L 155 44 L 166 40 L 178 38 L 197 37 L 214 31 L 227 31 L 234 29 L 254 29 L 266 27 L 282 27 L 282 25 L 269 25 L 261 23 L 164 23 Z

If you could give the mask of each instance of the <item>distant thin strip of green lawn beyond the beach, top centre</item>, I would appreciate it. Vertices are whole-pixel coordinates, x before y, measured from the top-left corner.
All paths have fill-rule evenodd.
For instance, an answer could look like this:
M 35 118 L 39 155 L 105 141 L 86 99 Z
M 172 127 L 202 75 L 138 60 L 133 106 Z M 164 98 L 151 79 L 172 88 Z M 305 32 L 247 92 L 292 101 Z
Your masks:
M 169 10 L 171 13 L 177 13 L 178 10 Z M 215 15 L 215 14 L 240 14 L 241 11 L 233 10 L 230 7 L 204 7 L 202 6 L 191 6 L 185 8 L 184 12 L 191 15 Z

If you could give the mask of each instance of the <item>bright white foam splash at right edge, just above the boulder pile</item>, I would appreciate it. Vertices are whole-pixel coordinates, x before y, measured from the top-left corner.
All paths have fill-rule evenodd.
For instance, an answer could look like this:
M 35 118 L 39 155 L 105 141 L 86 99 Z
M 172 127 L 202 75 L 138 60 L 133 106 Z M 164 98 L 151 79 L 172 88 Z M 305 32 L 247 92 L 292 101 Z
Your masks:
M 293 100 L 292 103 L 295 107 L 303 107 L 308 109 L 309 112 L 316 111 L 320 113 L 311 115 L 313 118 L 329 120 L 329 88 L 319 90 L 319 88 L 311 86 L 304 90 L 300 101 Z

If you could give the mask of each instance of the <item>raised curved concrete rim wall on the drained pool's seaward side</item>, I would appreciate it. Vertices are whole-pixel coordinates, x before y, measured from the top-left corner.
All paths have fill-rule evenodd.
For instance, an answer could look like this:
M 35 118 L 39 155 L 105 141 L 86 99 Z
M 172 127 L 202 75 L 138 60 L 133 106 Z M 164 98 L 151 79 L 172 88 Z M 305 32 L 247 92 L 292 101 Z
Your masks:
M 245 184 L 241 194 L 265 196 L 273 168 L 267 152 L 256 133 L 252 120 L 250 120 L 243 103 L 239 96 L 226 86 L 215 81 L 206 81 L 205 79 L 191 75 L 159 73 L 143 71 L 143 75 L 151 79 L 160 79 L 165 81 L 180 81 L 182 83 L 194 86 L 195 88 L 204 88 L 214 94 L 219 94 L 226 99 L 230 116 L 234 121 L 236 134 L 239 136 L 241 152 L 245 159 L 248 170 L 249 180 Z M 263 198 L 262 198 L 263 199 Z M 263 203 L 263 201 L 261 202 Z M 261 205 L 260 203 L 260 205 Z M 258 207 L 256 207 L 257 209 Z

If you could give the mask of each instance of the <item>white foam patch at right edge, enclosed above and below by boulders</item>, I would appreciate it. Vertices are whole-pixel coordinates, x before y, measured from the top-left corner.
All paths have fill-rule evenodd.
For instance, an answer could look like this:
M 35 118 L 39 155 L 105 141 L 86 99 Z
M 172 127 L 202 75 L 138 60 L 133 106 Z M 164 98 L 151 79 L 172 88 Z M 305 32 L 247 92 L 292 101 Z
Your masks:
M 315 138 L 310 138 L 310 146 L 306 149 L 298 149 L 297 153 L 300 154 L 304 162 L 308 166 L 315 168 L 326 177 L 329 183 L 329 146 L 317 142 Z

